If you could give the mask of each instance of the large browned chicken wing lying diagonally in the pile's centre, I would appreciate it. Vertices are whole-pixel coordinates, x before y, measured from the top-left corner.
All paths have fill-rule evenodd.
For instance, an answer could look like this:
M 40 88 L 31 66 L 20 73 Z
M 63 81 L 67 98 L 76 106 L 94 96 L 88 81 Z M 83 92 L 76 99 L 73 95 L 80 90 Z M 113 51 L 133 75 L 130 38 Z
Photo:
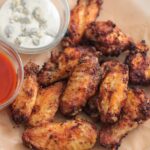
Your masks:
M 97 90 L 100 81 L 98 58 L 86 56 L 74 69 L 62 95 L 60 108 L 66 116 L 74 116 L 85 106 Z

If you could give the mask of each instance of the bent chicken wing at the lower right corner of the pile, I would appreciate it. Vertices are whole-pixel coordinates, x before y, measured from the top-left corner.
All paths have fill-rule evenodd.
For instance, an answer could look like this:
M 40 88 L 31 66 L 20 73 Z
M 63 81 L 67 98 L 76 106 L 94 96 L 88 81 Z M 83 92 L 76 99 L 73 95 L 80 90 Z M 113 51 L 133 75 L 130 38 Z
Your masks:
M 117 150 L 122 138 L 150 117 L 150 101 L 141 89 L 130 89 L 123 117 L 116 124 L 100 130 L 100 144 Z

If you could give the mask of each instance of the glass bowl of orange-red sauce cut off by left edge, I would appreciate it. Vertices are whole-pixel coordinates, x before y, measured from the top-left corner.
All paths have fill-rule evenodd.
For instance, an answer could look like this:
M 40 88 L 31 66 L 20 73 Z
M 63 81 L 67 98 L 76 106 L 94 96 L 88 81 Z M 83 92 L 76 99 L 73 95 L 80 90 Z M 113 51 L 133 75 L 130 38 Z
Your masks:
M 23 65 L 18 53 L 0 40 L 0 110 L 16 98 L 23 78 Z

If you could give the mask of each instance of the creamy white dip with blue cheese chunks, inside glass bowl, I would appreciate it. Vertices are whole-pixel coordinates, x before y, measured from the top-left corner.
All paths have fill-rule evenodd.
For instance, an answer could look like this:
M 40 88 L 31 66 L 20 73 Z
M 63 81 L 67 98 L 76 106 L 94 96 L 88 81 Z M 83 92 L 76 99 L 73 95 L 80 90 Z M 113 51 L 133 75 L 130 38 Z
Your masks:
M 7 0 L 0 20 L 0 36 L 24 48 L 50 44 L 60 27 L 59 12 L 51 0 Z

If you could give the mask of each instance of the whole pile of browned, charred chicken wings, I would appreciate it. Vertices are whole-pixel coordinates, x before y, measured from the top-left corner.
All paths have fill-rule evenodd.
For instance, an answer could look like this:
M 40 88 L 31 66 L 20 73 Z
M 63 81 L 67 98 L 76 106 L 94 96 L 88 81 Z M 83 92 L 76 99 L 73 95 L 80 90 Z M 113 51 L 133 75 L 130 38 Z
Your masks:
M 24 67 L 23 87 L 10 109 L 13 120 L 25 125 L 28 148 L 89 150 L 98 139 L 117 150 L 128 132 L 150 118 L 150 99 L 138 87 L 150 84 L 149 48 L 112 21 L 97 21 L 101 8 L 101 0 L 78 0 L 63 50 L 53 51 L 41 69 L 32 62 Z M 124 63 L 114 59 L 125 51 Z M 58 111 L 66 122 L 55 120 Z M 93 123 L 76 119 L 81 111 Z

